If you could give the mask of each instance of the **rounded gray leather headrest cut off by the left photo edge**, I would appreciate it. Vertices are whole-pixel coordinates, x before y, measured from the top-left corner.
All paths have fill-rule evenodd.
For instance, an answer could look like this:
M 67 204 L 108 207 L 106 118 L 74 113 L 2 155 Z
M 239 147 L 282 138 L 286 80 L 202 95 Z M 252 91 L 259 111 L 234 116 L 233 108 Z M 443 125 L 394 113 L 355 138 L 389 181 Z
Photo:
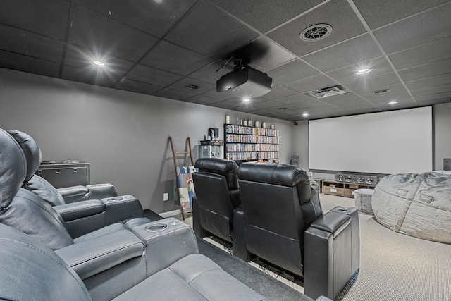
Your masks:
M 0 128 L 0 200 L 8 207 L 27 175 L 27 160 L 18 142 Z

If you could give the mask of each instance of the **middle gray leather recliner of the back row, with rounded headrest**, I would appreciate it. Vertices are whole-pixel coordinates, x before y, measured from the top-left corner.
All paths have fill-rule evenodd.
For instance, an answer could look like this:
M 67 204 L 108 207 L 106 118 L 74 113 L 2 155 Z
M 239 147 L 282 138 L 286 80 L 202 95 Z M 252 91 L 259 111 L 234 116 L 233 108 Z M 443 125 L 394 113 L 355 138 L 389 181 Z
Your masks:
M 0 175 L 6 173 L 10 178 L 18 180 L 16 184 L 20 187 L 25 177 L 30 176 L 25 154 L 18 142 L 6 131 L 0 129 L 0 137 Z M 17 167 L 11 165 L 11 158 L 8 157 L 13 152 L 20 153 L 23 160 Z M 23 175 L 22 167 L 25 168 Z M 149 223 L 150 220 L 143 216 L 140 202 L 134 198 L 120 202 L 109 199 L 88 200 L 52 207 L 35 193 L 20 188 L 11 198 L 3 196 L 0 222 L 32 235 L 51 249 L 58 250 L 73 245 L 74 242 Z

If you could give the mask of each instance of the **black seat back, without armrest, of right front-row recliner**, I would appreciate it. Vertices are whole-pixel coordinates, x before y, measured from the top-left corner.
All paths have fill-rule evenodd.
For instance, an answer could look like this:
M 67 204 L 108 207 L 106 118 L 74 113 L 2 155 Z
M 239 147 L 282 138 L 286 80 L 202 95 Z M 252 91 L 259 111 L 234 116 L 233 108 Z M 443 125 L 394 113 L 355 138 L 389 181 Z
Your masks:
M 302 275 L 304 231 L 319 217 L 307 173 L 287 164 L 249 162 L 240 166 L 238 178 L 248 252 Z

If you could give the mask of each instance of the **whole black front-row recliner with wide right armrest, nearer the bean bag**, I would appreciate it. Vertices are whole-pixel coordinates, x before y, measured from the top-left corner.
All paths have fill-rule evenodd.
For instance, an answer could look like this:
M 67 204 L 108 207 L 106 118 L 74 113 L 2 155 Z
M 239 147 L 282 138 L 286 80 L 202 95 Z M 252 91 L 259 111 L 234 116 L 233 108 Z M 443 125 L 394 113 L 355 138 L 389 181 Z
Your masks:
M 238 178 L 244 216 L 235 223 L 244 224 L 245 235 L 235 240 L 234 254 L 304 276 L 309 297 L 335 299 L 359 269 L 357 211 L 337 207 L 323 214 L 318 188 L 297 166 L 247 162 Z

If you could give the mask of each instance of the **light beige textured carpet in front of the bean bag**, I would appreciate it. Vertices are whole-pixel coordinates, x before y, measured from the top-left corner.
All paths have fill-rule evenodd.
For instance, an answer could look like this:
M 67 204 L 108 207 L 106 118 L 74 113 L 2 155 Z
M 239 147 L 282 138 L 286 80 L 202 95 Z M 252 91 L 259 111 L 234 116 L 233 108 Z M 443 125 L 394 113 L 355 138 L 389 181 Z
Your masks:
M 324 211 L 354 207 L 347 197 L 321 195 L 321 203 Z M 451 245 L 396 233 L 369 214 L 359 221 L 359 274 L 336 300 L 451 300 Z

